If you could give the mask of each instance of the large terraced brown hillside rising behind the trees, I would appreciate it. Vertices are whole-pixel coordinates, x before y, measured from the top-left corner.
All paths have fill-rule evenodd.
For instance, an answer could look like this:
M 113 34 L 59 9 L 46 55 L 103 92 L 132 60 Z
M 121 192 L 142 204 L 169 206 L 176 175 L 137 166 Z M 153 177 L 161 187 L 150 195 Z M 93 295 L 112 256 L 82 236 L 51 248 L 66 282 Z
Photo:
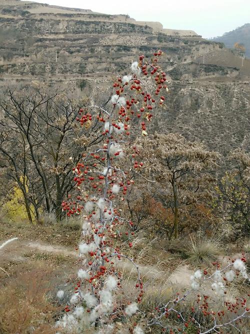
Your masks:
M 222 153 L 247 147 L 250 61 L 191 31 L 162 29 L 90 10 L 15 0 L 0 4 L 0 89 L 46 81 L 105 87 L 138 54 L 164 51 L 167 110 L 157 131 L 199 139 Z

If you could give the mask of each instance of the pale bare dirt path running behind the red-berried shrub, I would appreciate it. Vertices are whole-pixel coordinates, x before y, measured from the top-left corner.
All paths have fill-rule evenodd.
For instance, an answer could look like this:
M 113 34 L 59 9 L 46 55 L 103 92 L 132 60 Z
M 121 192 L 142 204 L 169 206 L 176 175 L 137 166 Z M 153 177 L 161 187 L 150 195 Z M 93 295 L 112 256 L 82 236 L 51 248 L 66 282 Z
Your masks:
M 0 245 L 2 245 L 4 241 L 0 241 Z M 53 246 L 45 243 L 40 243 L 38 241 L 14 240 L 9 244 L 7 244 L 4 248 L 0 249 L 0 263 L 3 260 L 25 262 L 28 260 L 28 258 L 25 257 L 25 254 L 29 252 L 50 253 L 50 254 L 71 256 L 71 257 L 78 256 L 75 250 L 63 246 Z M 127 274 L 136 273 L 135 266 L 126 259 L 121 259 L 120 261 L 116 261 L 116 264 L 119 266 L 121 271 L 124 271 Z M 167 275 L 165 271 L 160 271 L 152 265 L 139 264 L 138 269 L 142 278 L 159 279 L 160 277 L 165 277 L 169 283 L 178 284 L 179 286 L 188 285 L 190 280 L 190 275 L 192 274 L 192 271 L 188 268 L 187 265 L 178 267 L 170 275 Z

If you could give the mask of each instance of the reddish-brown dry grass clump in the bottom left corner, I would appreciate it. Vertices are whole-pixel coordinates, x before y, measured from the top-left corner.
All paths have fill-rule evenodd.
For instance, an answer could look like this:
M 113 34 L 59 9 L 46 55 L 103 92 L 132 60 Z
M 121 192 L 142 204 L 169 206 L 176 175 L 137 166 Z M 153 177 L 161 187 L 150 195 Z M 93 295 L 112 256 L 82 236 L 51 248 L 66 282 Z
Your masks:
M 49 297 L 50 272 L 37 265 L 0 288 L 0 333 L 53 334 L 58 306 Z

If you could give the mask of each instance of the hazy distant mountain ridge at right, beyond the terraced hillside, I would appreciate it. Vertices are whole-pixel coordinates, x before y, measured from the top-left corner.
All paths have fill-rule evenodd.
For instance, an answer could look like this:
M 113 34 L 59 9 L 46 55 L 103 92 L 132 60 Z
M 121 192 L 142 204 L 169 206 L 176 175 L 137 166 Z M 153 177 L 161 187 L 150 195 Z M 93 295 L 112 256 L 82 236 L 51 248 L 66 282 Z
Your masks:
M 225 33 L 222 36 L 211 39 L 215 42 L 222 42 L 226 48 L 233 48 L 234 43 L 242 43 L 245 47 L 245 55 L 250 58 L 250 23 Z

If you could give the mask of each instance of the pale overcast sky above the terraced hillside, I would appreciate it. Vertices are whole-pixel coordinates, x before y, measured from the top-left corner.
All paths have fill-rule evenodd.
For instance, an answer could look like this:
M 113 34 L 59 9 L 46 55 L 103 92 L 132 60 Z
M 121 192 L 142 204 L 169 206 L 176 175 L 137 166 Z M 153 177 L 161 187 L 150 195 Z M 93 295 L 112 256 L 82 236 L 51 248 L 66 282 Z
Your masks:
M 137 21 L 158 21 L 163 28 L 194 30 L 205 38 L 250 23 L 250 0 L 35 0 L 37 3 L 128 14 Z

